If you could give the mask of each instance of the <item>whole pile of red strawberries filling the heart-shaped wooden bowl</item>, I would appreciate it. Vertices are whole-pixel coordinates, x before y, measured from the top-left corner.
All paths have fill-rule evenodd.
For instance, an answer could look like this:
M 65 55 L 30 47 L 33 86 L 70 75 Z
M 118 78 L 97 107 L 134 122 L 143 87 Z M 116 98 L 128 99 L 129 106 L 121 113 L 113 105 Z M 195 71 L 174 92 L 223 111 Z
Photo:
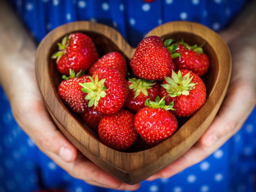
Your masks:
M 85 34 L 66 36 L 58 45 L 52 58 L 63 74 L 60 98 L 113 149 L 125 151 L 141 138 L 157 145 L 177 130 L 177 117 L 192 116 L 206 100 L 203 45 L 146 37 L 129 63 L 129 77 L 121 53 L 99 57 Z

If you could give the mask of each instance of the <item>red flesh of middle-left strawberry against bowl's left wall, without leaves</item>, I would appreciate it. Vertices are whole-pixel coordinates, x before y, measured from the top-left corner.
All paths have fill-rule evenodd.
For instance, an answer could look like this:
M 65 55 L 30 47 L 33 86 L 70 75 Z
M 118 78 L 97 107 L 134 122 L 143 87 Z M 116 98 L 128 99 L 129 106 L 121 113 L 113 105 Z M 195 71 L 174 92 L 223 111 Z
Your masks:
M 63 80 L 58 87 L 60 98 L 74 111 L 79 113 L 84 112 L 88 107 L 88 101 L 84 100 L 87 93 L 81 91 L 79 83 L 87 83 L 90 81 L 88 75 Z

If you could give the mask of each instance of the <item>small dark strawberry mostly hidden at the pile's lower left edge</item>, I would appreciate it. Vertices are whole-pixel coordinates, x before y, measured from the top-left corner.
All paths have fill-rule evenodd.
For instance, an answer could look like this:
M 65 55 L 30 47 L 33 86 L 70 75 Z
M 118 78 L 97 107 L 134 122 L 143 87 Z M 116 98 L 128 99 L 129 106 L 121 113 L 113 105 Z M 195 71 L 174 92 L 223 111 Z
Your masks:
M 82 114 L 81 117 L 85 124 L 92 127 L 95 131 L 98 131 L 98 125 L 100 120 L 104 116 L 103 113 L 95 110 L 93 107 L 88 107 Z

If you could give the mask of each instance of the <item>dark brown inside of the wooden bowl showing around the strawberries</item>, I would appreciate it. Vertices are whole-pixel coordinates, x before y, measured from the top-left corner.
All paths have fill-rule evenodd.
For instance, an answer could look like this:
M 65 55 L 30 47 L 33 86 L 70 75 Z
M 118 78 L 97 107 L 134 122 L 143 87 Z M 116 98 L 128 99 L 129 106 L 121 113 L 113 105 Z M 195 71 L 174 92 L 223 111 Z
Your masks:
M 123 53 L 123 55 L 124 55 L 124 57 L 127 61 L 128 71 L 130 72 L 130 74 L 132 74 L 131 67 L 130 67 L 130 59 L 131 58 L 128 58 L 127 55 L 125 55 L 125 53 L 118 48 L 118 46 L 115 44 L 115 42 L 111 41 L 108 37 L 106 37 L 102 34 L 92 32 L 92 31 L 84 30 L 84 31 L 74 31 L 74 32 L 82 32 L 82 33 L 90 36 L 92 38 L 92 41 L 96 45 L 96 48 L 97 48 L 97 51 L 98 51 L 100 57 L 103 56 L 104 54 L 108 53 L 108 52 L 113 52 L 113 51 Z M 67 34 L 67 35 L 69 35 L 69 34 Z M 51 85 L 52 85 L 52 88 L 54 90 L 54 93 L 55 93 L 56 97 L 60 101 L 61 101 L 61 99 L 58 95 L 58 86 L 59 86 L 60 82 L 62 81 L 62 79 L 61 79 L 62 75 L 57 70 L 55 60 L 51 59 L 51 55 L 58 50 L 57 42 L 61 42 L 62 38 L 63 38 L 63 36 L 60 37 L 56 42 L 52 43 L 52 46 L 51 46 L 51 48 L 49 50 L 49 53 L 48 53 L 48 58 L 49 58 L 49 60 L 48 60 L 48 64 L 49 64 L 48 73 L 49 73 L 49 76 L 50 76 L 50 82 L 51 82 Z M 186 43 L 188 43 L 189 45 L 194 45 L 194 44 L 200 45 L 200 44 L 205 42 L 205 44 L 203 46 L 203 49 L 204 49 L 204 52 L 208 55 L 208 57 L 210 59 L 210 68 L 209 68 L 208 72 L 202 77 L 202 79 L 203 79 L 203 81 L 205 83 L 205 86 L 206 86 L 206 93 L 207 93 L 207 98 L 208 98 L 209 95 L 211 94 L 212 89 L 213 89 L 214 82 L 217 79 L 218 71 L 219 71 L 219 67 L 220 67 L 218 59 L 217 59 L 217 55 L 214 52 L 214 50 L 212 49 L 211 45 L 203 37 L 195 35 L 193 33 L 188 33 L 188 32 L 167 33 L 166 35 L 164 35 L 164 38 L 165 39 L 173 38 L 177 42 L 180 41 L 183 38 L 184 41 Z M 84 127 L 85 131 L 89 132 L 94 138 L 99 140 L 98 133 L 94 129 L 88 127 L 83 122 L 83 120 L 81 119 L 80 114 L 74 112 L 71 108 L 68 107 L 68 105 L 66 105 L 62 101 L 61 101 L 61 103 L 62 103 L 62 105 L 64 105 L 67 108 L 68 112 L 72 116 L 74 116 L 76 118 L 76 120 Z M 190 117 L 178 118 L 178 122 L 179 122 L 178 129 L 183 124 L 185 124 L 188 121 L 189 118 Z M 135 145 L 127 152 L 138 152 L 138 151 L 142 151 L 142 150 L 147 150 L 148 148 L 149 147 L 146 146 L 143 143 L 143 141 L 141 141 L 141 138 L 139 138 L 137 140 L 137 142 L 135 143 Z

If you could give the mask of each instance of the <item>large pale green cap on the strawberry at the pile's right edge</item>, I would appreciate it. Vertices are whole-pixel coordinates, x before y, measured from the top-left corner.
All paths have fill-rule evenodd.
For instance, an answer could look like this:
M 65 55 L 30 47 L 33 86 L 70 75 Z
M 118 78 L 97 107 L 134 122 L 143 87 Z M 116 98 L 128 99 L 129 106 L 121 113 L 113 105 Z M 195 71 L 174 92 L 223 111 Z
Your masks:
M 194 76 L 189 78 L 190 72 L 182 77 L 180 70 L 176 74 L 172 70 L 172 78 L 165 76 L 167 84 L 162 84 L 161 86 L 166 89 L 170 97 L 176 97 L 179 95 L 189 95 L 189 91 L 195 88 L 196 83 L 191 83 Z

